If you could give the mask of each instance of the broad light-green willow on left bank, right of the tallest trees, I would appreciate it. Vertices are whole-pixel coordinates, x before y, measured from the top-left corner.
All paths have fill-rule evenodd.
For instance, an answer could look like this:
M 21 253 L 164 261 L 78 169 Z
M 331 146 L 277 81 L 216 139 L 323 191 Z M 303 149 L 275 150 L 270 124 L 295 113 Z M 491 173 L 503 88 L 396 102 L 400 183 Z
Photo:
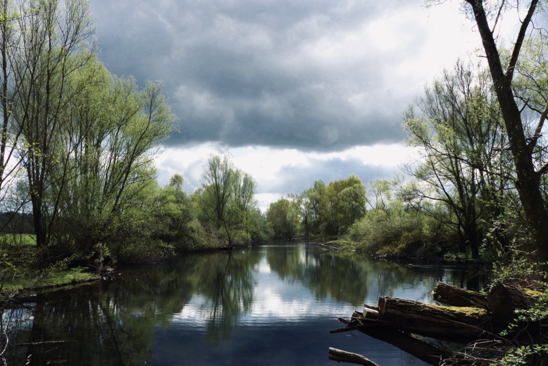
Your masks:
M 128 212 L 147 201 L 142 196 L 154 185 L 153 158 L 173 131 L 174 116 L 161 84 L 139 90 L 134 79 L 110 75 L 95 58 L 72 75 L 67 89 L 80 91 L 62 113 L 57 169 L 49 176 L 56 211 L 49 212 L 61 217 L 56 233 L 70 233 L 67 240 L 85 251 L 119 237 L 132 225 L 129 217 L 139 216 Z

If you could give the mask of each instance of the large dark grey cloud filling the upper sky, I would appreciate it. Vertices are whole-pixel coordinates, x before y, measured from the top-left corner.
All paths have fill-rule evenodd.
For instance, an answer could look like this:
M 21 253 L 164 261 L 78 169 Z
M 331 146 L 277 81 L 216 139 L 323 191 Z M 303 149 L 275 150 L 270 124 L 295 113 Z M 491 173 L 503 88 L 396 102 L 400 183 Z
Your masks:
M 393 24 L 368 26 L 421 3 L 90 0 L 107 68 L 164 81 L 180 125 L 168 145 L 322 151 L 404 138 L 416 85 L 387 78 L 427 28 L 381 53 L 370 38 Z

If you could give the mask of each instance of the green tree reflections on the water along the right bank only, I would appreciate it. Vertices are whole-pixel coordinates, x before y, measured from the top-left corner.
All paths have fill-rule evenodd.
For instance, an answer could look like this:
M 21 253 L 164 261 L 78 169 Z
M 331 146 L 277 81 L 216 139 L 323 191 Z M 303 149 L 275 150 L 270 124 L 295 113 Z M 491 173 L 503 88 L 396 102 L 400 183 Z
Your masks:
M 430 301 L 437 281 L 447 282 L 449 278 L 458 281 L 462 276 L 454 276 L 455 273 L 448 273 L 443 267 L 408 267 L 374 260 L 365 254 L 319 250 L 305 244 L 293 250 L 267 247 L 266 258 L 282 280 L 302 282 L 315 291 L 318 299 L 329 295 L 353 306 L 364 302 L 375 304 L 380 296 L 394 296 L 396 290 L 402 289 L 413 290 L 417 300 Z

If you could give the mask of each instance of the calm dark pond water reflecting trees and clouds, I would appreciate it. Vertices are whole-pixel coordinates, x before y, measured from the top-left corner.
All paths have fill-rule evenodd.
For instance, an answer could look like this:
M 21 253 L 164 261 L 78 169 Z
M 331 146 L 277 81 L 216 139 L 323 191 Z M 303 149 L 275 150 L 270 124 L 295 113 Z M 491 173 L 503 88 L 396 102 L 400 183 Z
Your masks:
M 421 365 L 359 332 L 329 330 L 379 296 L 431 302 L 436 281 L 466 278 L 458 268 L 287 242 L 119 268 L 116 277 L 4 309 L 8 364 L 334 366 L 335 347 L 380 365 Z

